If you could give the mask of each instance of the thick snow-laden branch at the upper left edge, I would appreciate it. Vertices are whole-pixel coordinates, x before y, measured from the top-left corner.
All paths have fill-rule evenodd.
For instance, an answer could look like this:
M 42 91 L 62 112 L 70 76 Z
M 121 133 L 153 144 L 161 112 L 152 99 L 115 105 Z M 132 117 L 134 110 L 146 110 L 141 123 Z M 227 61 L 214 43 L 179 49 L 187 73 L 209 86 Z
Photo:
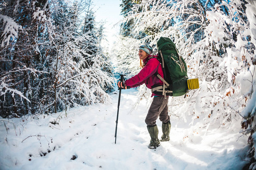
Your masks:
M 18 37 L 18 31 L 19 29 L 22 29 L 22 26 L 14 22 L 14 20 L 11 19 L 9 16 L 0 14 L 0 22 L 2 20 L 3 26 L 5 25 L 5 29 L 3 30 L 3 33 L 1 35 L 1 47 L 3 48 L 5 46 L 5 43 L 6 46 L 8 46 L 10 44 L 10 41 L 14 41 L 15 37 Z

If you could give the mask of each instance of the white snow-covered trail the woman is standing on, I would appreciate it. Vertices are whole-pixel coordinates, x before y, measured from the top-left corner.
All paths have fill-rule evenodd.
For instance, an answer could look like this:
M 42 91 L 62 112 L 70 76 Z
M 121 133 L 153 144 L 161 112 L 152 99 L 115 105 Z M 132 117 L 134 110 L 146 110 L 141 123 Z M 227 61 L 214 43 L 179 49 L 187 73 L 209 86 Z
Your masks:
M 229 130 L 195 129 L 171 117 L 170 141 L 148 149 L 146 100 L 130 112 L 136 94 L 135 90 L 122 91 L 116 144 L 118 94 L 112 95 L 112 104 L 73 108 L 68 118 L 63 112 L 57 124 L 52 123 L 60 113 L 10 120 L 18 135 L 10 122 L 6 122 L 7 134 L 1 121 L 0 169 L 241 169 L 246 164 L 241 158 L 247 137 L 238 139 L 236 125 Z M 157 124 L 160 138 L 159 120 Z

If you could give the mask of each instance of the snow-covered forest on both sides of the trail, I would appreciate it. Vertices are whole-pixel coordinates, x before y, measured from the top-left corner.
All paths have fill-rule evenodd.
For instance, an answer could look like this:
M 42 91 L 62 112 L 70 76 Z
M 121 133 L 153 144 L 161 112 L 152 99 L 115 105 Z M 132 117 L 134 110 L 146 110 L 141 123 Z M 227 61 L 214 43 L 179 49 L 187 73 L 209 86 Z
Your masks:
M 241 120 L 247 135 L 247 168 L 255 169 L 254 0 L 122 0 L 118 40 L 102 47 L 104 23 L 96 23 L 90 0 L 3 0 L 0 2 L 0 121 L 65 112 L 110 100 L 119 74 L 137 74 L 138 46 L 157 53 L 170 37 L 200 88 L 172 97 L 172 113 L 205 127 L 229 128 Z M 146 86 L 141 99 L 150 99 Z M 192 116 L 189 120 L 188 116 Z

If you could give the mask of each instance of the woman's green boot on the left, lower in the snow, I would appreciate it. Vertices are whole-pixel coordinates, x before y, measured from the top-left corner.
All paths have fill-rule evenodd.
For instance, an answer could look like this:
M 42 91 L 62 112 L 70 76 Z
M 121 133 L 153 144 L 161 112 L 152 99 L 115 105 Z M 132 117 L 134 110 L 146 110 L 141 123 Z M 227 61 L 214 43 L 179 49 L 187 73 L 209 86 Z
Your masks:
M 147 147 L 155 149 L 156 147 L 160 146 L 160 141 L 158 139 L 158 126 L 147 125 L 147 130 L 151 137 L 150 144 Z

